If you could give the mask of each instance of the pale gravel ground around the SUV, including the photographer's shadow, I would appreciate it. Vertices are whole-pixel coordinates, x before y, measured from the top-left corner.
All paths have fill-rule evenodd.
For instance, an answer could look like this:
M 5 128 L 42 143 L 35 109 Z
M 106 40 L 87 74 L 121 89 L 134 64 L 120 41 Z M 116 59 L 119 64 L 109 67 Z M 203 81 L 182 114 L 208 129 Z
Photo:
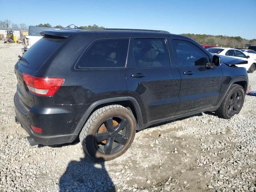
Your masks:
M 0 191 L 256 191 L 256 97 L 230 120 L 201 113 L 136 133 L 130 149 L 94 162 L 80 143 L 28 144 L 14 122 L 21 45 L 0 43 Z M 256 90 L 256 72 L 249 74 Z

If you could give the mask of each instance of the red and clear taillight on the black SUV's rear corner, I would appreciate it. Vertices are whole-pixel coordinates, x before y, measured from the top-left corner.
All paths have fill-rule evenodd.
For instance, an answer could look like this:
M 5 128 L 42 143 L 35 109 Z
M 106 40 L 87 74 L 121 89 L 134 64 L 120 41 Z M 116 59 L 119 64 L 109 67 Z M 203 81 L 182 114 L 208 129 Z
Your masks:
M 23 73 L 23 80 L 30 92 L 40 96 L 54 96 L 64 81 L 62 78 L 34 77 L 26 73 Z

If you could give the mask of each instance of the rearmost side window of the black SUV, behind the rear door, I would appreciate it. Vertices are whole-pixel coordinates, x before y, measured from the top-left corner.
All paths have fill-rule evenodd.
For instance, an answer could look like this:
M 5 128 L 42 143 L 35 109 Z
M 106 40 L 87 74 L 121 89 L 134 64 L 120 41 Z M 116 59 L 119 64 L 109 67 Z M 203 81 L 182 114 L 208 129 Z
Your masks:
M 125 67 L 129 39 L 98 40 L 84 52 L 78 68 Z

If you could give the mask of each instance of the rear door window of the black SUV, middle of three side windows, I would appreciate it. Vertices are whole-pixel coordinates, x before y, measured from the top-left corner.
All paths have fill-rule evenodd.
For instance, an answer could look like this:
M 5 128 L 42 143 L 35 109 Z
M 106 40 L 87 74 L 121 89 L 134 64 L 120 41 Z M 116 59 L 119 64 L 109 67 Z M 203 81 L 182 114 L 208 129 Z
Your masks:
M 165 39 L 134 39 L 132 51 L 136 67 L 170 66 Z

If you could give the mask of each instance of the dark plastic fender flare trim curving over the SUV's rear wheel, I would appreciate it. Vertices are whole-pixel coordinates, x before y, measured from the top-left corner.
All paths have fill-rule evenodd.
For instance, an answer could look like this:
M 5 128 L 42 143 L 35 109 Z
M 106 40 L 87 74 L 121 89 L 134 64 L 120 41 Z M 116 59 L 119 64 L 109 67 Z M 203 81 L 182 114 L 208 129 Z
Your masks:
M 98 106 L 100 106 L 102 104 L 120 102 L 120 101 L 130 101 L 130 102 L 132 102 L 132 104 L 134 106 L 134 109 L 136 110 L 136 116 L 137 116 L 137 119 L 138 119 L 138 126 L 139 127 L 142 126 L 142 124 L 143 124 L 142 114 L 141 114 L 140 106 L 139 106 L 138 102 L 136 101 L 136 99 L 133 98 L 133 97 L 113 97 L 113 98 L 106 98 L 106 99 L 98 100 L 98 101 L 92 103 L 88 107 L 86 112 L 83 114 L 80 121 L 78 122 L 78 124 L 76 126 L 76 129 L 74 130 L 74 134 L 78 135 L 80 133 L 80 131 L 82 130 L 82 128 L 85 124 L 85 122 L 87 121 L 90 114 L 92 113 L 92 111 L 95 108 L 97 108 Z M 137 128 L 137 129 L 139 129 L 139 128 Z

